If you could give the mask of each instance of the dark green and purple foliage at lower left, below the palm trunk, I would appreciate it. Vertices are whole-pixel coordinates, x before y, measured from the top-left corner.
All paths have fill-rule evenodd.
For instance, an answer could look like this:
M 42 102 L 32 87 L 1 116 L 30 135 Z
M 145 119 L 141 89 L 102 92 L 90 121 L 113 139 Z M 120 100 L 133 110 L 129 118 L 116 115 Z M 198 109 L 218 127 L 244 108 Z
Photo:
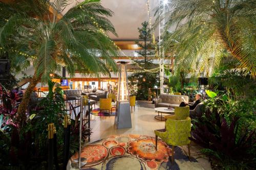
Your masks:
M 46 98 L 37 100 L 29 118 L 24 126 L 19 126 L 17 118 L 17 106 L 20 103 L 20 92 L 7 91 L 0 86 L 0 169 L 46 169 L 48 160 L 48 131 L 47 125 L 54 123 L 57 131 L 57 155 L 61 165 L 63 157 L 63 116 L 67 114 L 61 88 L 54 87 L 49 82 L 49 93 Z M 72 106 L 72 105 L 71 105 Z M 75 109 L 71 107 L 70 112 Z M 79 118 L 71 120 L 70 155 L 78 150 Z M 82 142 L 91 133 L 84 125 L 82 127 Z

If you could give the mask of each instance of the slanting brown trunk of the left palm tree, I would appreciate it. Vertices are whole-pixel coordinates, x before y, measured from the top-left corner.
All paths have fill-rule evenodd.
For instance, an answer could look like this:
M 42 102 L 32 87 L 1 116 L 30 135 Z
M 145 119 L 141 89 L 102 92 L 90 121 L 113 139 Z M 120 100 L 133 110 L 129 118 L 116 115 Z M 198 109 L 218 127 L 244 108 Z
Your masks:
M 32 80 L 29 83 L 28 88 L 26 89 L 25 94 L 23 95 L 22 102 L 20 103 L 20 105 L 18 107 L 18 111 L 17 111 L 17 121 L 18 121 L 19 126 L 22 126 L 27 118 L 26 110 L 29 105 L 30 95 L 33 92 L 33 89 L 35 88 L 37 83 L 40 81 L 40 79 L 41 79 L 41 75 L 37 76 L 36 72 L 35 72 Z

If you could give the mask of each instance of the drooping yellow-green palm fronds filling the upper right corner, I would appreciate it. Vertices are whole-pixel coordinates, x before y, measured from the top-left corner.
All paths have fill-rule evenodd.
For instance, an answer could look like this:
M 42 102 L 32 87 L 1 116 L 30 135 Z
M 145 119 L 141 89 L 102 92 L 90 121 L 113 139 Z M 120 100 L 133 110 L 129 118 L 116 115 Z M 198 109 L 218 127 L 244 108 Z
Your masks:
M 210 75 L 227 51 L 255 76 L 255 7 L 253 0 L 172 0 L 156 15 L 157 22 L 167 18 L 166 32 L 176 28 L 164 44 L 177 52 L 177 67 Z

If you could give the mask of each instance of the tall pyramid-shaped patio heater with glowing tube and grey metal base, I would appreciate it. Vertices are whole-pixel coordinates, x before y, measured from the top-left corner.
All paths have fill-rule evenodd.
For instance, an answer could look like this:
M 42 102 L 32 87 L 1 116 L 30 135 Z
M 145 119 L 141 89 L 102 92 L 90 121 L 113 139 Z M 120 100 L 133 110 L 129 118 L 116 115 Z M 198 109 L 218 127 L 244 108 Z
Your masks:
M 117 103 L 115 126 L 117 129 L 132 128 L 132 118 L 130 110 L 130 95 L 128 89 L 128 79 L 126 71 L 126 63 L 124 61 L 117 62 L 119 67 L 119 80 L 117 89 Z

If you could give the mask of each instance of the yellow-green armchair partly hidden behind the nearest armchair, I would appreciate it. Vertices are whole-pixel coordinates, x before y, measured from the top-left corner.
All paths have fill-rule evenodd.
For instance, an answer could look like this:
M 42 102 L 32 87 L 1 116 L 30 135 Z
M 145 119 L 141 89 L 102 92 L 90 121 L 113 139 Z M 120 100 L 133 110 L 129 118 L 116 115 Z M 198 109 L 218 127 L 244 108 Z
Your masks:
M 186 117 L 189 117 L 189 106 L 175 107 L 174 115 L 164 116 L 165 119 L 172 118 L 176 120 L 186 119 Z

